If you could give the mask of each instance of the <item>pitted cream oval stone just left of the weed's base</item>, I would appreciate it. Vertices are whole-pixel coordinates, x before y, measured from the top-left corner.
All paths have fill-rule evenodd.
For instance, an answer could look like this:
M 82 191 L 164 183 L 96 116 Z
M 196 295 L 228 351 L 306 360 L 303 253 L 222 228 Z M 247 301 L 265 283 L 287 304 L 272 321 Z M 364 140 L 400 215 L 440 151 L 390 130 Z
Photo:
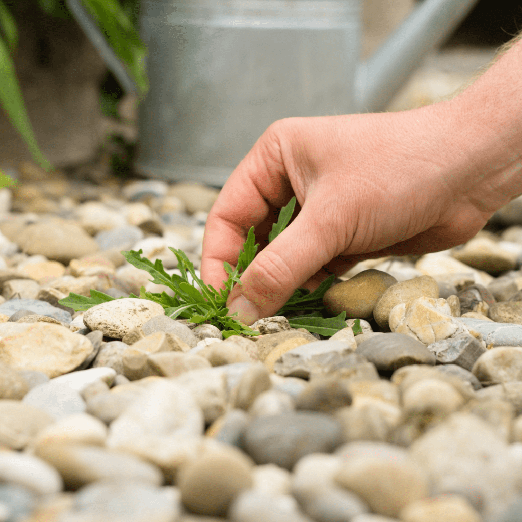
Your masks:
M 164 317 L 163 307 L 158 303 L 147 299 L 115 299 L 92 306 L 84 313 L 84 323 L 107 337 L 122 339 L 129 330 L 143 327 L 157 315 Z

